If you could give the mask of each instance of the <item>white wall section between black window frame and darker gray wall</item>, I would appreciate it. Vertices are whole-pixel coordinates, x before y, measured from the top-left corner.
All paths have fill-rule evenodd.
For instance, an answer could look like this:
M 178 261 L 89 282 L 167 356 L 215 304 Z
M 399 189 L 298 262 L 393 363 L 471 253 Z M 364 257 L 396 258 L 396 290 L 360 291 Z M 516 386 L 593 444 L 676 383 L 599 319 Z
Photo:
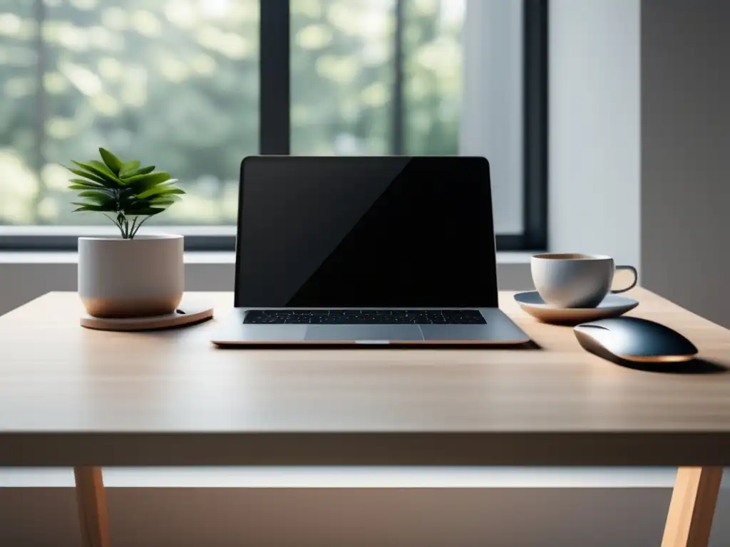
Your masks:
M 550 0 L 550 249 L 637 266 L 639 12 L 639 0 Z

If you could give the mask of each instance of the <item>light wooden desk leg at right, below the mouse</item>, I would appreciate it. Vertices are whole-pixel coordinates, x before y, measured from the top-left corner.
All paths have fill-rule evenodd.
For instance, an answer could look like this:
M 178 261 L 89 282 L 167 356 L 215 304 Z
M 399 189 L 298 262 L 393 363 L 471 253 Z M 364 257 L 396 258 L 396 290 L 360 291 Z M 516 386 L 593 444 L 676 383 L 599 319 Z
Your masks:
M 707 547 L 723 468 L 679 468 L 661 547 Z

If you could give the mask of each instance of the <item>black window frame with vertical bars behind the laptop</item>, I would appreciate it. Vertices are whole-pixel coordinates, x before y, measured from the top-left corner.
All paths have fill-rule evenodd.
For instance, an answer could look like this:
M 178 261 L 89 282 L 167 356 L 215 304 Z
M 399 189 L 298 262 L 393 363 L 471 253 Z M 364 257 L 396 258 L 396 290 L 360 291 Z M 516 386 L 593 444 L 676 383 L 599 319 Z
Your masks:
M 539 251 L 548 247 L 548 1 L 523 0 L 523 231 L 497 233 L 497 251 Z M 404 152 L 405 2 L 395 1 L 393 33 L 391 153 L 396 155 Z M 288 155 L 291 150 L 290 0 L 261 0 L 259 10 L 259 153 Z M 22 232 L 22 227 L 12 231 Z M 206 230 L 193 227 L 180 231 L 185 235 L 188 251 L 233 251 L 235 248 L 234 230 L 226 230 L 230 232 L 226 234 L 204 234 L 200 232 Z M 77 235 L 71 233 L 0 235 L 0 250 L 76 249 Z

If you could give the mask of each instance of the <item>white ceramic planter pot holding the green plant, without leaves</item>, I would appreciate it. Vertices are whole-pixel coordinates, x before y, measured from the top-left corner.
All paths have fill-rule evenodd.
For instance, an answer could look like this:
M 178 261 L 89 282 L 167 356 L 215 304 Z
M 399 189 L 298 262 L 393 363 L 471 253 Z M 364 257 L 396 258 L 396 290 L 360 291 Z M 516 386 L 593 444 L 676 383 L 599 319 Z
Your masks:
M 169 314 L 185 290 L 183 236 L 79 238 L 78 281 L 94 317 Z

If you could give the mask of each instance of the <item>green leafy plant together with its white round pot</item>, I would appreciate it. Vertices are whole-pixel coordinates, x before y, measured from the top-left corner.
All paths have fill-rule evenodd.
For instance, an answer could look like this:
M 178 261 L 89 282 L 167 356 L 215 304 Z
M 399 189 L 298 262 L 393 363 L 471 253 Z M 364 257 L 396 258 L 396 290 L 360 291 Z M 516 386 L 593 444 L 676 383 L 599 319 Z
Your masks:
M 169 173 L 139 161 L 122 161 L 99 149 L 101 159 L 74 161 L 80 190 L 74 212 L 97 212 L 119 229 L 115 237 L 79 238 L 78 290 L 95 317 L 147 317 L 172 313 L 183 298 L 183 236 L 140 235 L 139 228 L 180 199 Z

